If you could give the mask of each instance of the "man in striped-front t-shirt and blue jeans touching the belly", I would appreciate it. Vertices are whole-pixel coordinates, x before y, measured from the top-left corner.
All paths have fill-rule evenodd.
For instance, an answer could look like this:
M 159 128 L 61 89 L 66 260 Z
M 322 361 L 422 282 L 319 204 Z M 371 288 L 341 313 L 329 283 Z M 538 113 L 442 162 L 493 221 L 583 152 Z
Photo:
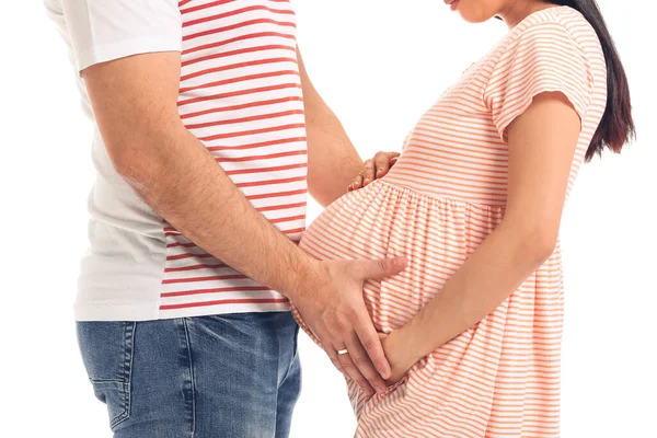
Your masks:
M 115 437 L 286 437 L 288 299 L 338 369 L 382 391 L 362 283 L 404 261 L 318 262 L 295 244 L 307 191 L 330 204 L 362 162 L 308 79 L 290 3 L 46 5 L 97 127 L 76 316 Z

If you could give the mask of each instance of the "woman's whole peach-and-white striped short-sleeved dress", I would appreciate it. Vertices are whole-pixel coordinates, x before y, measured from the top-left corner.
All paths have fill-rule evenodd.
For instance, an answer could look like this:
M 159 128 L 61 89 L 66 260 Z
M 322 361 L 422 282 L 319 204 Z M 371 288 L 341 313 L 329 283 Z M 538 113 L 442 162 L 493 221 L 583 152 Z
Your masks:
M 560 7 L 517 25 L 422 117 L 387 176 L 345 195 L 310 226 L 301 247 L 320 260 L 408 258 L 402 274 L 366 284 L 379 331 L 406 324 L 500 223 L 505 128 L 549 91 L 564 93 L 583 119 L 569 191 L 604 111 L 607 80 L 595 31 Z M 356 436 L 558 437 L 563 304 L 557 245 L 495 311 L 384 396 L 367 397 L 348 381 Z

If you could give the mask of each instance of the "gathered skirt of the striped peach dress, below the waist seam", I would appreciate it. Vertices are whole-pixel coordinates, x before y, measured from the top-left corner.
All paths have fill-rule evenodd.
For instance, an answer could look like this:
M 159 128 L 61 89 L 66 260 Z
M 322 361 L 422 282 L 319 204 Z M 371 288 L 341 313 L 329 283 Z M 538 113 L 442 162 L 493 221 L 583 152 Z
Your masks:
M 319 260 L 406 256 L 404 272 L 365 285 L 374 326 L 388 333 L 440 293 L 502 217 L 499 207 L 436 199 L 383 180 L 331 205 L 300 245 Z M 544 436 L 557 436 L 563 321 L 557 262 L 481 323 L 419 360 L 384 396 L 368 396 L 347 379 L 356 436 L 415 437 L 430 430 L 441 437 L 519 437 L 533 430 L 537 415 L 554 423 Z M 309 333 L 296 310 L 295 316 Z

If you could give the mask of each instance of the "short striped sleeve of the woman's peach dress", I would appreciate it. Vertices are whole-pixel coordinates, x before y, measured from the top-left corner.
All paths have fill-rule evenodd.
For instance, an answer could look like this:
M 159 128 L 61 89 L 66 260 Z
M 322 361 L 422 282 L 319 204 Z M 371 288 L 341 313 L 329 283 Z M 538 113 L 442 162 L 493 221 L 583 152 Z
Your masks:
M 484 101 L 503 141 L 511 122 L 545 92 L 563 93 L 584 120 L 592 94 L 591 68 L 584 50 L 557 22 L 522 31 L 493 68 Z

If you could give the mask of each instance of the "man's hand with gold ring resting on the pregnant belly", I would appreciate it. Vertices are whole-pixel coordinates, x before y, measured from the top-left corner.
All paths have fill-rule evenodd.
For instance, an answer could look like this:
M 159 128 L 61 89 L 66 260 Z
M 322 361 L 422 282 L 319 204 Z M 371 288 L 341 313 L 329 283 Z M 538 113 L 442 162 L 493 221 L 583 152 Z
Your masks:
M 320 339 L 333 365 L 369 394 L 385 391 L 390 366 L 365 307 L 367 279 L 399 274 L 406 260 L 318 262 L 313 275 L 292 301 Z M 348 353 L 338 355 L 346 349 Z

